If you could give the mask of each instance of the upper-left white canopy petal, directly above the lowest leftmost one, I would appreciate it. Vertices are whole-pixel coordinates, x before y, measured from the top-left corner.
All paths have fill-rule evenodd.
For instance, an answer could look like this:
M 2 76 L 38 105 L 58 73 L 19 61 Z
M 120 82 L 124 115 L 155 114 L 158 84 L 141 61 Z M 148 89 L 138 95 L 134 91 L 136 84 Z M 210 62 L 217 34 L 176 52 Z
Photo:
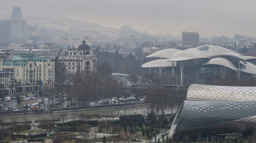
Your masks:
M 175 52 L 182 51 L 180 49 L 162 49 L 161 51 L 154 52 L 153 54 L 147 55 L 149 57 L 160 57 L 160 58 L 169 58 Z

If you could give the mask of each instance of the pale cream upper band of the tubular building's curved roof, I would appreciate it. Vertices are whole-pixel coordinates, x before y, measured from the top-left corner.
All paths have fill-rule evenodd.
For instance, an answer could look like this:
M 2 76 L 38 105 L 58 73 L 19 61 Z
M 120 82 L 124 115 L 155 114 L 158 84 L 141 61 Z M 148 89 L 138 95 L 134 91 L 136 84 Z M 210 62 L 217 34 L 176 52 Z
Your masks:
M 256 87 L 190 85 L 186 100 L 191 101 L 256 101 Z

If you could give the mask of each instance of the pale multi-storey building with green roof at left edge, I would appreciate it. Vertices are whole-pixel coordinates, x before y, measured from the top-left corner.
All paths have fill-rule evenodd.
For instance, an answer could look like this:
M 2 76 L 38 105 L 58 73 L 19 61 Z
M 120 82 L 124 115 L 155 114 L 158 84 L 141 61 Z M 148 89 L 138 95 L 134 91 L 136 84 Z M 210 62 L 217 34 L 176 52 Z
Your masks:
M 0 60 L 0 70 L 10 73 L 11 83 L 17 83 L 18 91 L 38 91 L 53 88 L 55 63 L 49 57 L 20 54 Z

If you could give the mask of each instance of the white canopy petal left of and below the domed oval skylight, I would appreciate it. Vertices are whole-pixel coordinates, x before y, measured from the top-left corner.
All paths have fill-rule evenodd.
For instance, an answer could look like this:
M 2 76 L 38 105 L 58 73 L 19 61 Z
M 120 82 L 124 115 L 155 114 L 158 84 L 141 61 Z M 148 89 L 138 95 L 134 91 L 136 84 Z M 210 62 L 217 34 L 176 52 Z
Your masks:
M 179 51 L 171 55 L 168 58 L 168 61 L 185 61 L 185 60 L 194 60 L 198 58 L 209 58 L 201 54 L 197 54 L 196 52 L 189 52 L 189 51 Z

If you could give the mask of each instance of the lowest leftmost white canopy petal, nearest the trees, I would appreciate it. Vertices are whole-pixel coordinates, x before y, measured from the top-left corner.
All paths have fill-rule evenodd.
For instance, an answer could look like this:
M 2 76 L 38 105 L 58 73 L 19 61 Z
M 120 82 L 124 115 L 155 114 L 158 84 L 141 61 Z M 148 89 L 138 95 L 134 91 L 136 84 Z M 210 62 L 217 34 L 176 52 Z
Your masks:
M 171 63 L 167 61 L 168 59 L 149 61 L 147 63 L 142 64 L 141 67 L 172 67 Z M 174 67 L 175 66 L 176 64 L 174 64 Z

